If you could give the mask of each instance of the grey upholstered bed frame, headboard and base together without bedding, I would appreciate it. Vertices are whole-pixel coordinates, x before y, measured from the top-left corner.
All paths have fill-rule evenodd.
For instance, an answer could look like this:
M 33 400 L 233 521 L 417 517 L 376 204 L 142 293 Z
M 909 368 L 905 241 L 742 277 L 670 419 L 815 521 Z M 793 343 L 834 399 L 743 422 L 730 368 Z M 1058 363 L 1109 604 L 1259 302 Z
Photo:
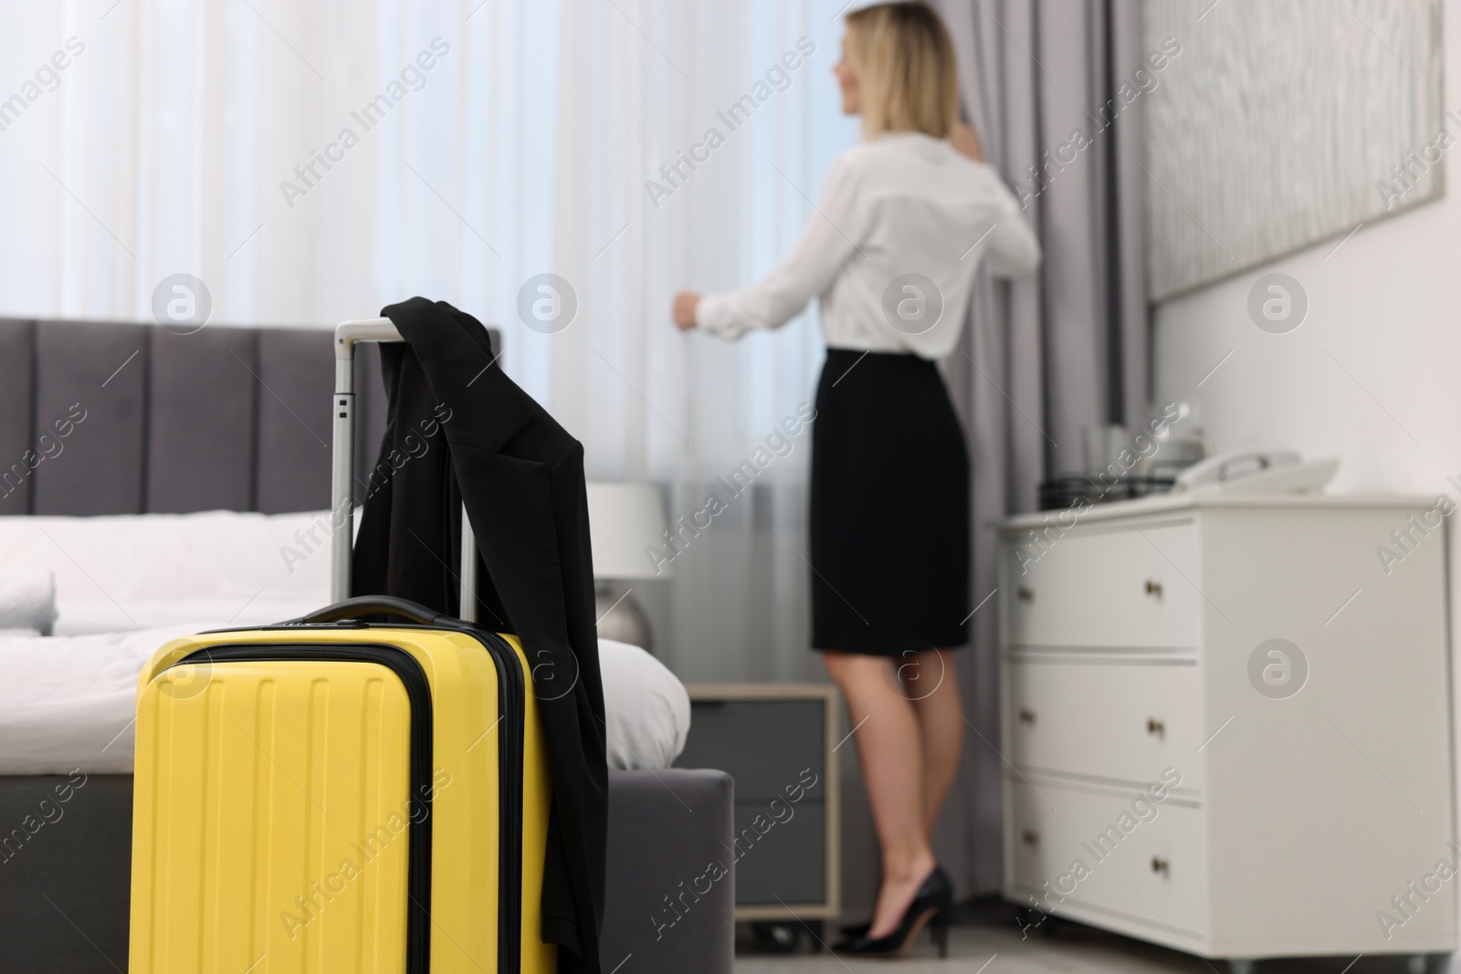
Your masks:
M 0 515 L 330 507 L 327 329 L 0 318 Z M 374 345 L 358 349 L 355 390 L 359 498 L 386 428 Z M 73 404 L 85 419 L 57 440 Z M 0 775 L 0 974 L 127 970 L 131 775 L 88 775 L 57 802 L 66 784 Z M 725 859 L 732 790 L 722 771 L 609 772 L 605 974 L 628 956 L 625 971 L 730 973 L 733 878 L 672 929 L 656 917 Z

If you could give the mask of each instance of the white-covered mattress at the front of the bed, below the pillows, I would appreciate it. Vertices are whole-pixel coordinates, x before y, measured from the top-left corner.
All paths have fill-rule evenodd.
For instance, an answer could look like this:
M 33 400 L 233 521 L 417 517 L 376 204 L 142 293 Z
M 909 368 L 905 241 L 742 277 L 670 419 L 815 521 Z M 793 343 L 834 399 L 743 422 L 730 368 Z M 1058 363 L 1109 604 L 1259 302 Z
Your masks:
M 215 618 L 130 632 L 0 634 L 0 775 L 130 774 L 142 666 L 162 644 L 224 625 Z M 609 767 L 669 767 L 690 732 L 684 685 L 644 650 L 611 640 L 600 640 L 599 664 Z

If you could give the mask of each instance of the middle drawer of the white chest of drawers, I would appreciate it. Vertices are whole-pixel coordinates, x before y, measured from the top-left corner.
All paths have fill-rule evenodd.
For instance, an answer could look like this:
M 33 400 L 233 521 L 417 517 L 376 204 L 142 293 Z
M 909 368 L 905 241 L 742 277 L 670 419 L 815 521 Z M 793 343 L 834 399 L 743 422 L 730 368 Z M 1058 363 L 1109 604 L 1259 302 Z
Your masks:
M 1005 673 L 1005 745 L 1015 765 L 1138 784 L 1175 768 L 1183 789 L 1202 789 L 1195 664 L 1012 656 Z

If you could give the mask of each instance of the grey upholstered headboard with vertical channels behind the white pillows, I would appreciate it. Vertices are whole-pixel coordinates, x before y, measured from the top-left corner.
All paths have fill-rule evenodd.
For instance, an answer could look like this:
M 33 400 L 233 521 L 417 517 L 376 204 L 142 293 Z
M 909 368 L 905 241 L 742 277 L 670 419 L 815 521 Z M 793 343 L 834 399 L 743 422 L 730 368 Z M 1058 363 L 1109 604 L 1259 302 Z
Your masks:
M 0 515 L 327 508 L 332 337 L 0 318 Z M 359 498 L 386 428 L 374 345 L 355 391 Z

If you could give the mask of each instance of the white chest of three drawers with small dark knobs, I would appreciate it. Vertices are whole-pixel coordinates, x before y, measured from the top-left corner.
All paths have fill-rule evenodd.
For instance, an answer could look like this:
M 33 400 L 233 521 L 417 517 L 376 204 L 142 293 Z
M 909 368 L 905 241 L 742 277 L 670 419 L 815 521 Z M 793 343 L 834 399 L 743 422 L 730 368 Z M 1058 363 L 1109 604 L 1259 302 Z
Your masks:
M 1005 897 L 1240 962 L 1454 951 L 1432 508 L 1198 494 L 1004 521 Z

